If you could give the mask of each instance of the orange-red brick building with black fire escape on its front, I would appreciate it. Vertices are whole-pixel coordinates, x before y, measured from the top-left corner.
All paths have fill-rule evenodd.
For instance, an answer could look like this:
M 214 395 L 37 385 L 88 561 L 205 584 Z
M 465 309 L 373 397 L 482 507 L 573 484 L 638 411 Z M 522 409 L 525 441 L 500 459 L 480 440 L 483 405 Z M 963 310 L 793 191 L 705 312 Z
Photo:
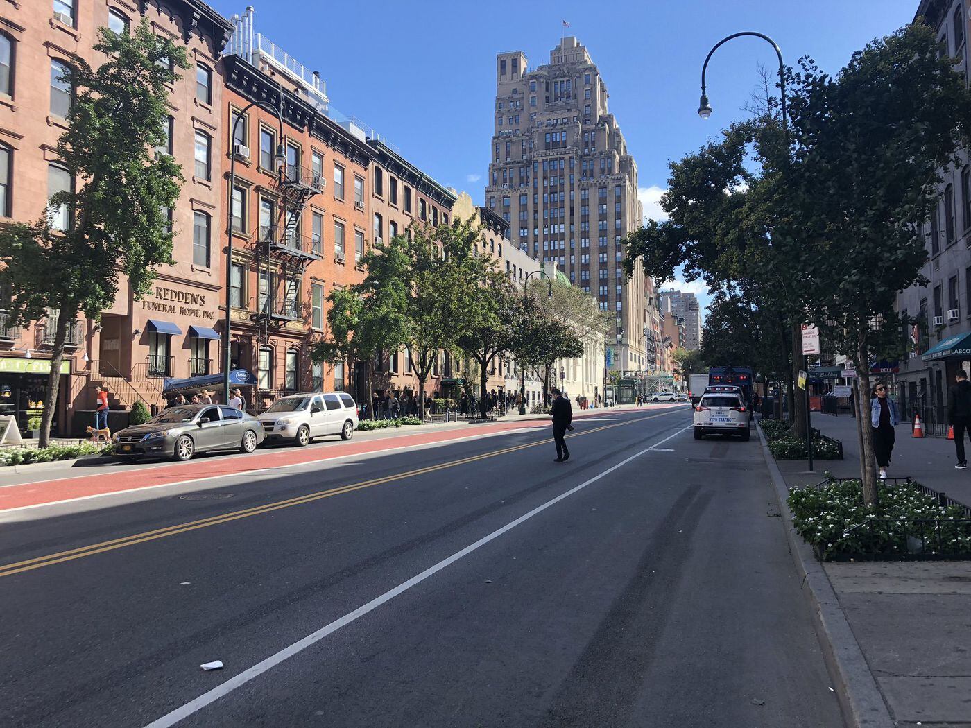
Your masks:
M 357 126 L 330 108 L 317 74 L 252 33 L 251 12 L 235 22 L 222 59 L 226 199 L 235 156 L 232 366 L 255 375 L 248 402 L 255 410 L 293 391 L 347 388 L 359 397 L 346 365 L 313 363 L 310 349 L 326 330 L 327 295 L 364 276 L 375 152 Z M 281 160 L 275 110 L 284 122 Z M 225 223 L 222 229 L 225 255 L 229 231 Z

